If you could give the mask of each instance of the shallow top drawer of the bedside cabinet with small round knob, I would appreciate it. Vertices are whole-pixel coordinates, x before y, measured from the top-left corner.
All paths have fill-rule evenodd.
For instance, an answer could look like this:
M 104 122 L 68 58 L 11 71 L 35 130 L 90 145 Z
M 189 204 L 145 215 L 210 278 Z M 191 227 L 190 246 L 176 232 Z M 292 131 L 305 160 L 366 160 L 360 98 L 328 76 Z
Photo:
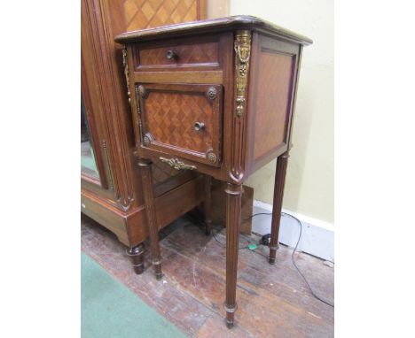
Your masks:
M 183 70 L 183 68 L 218 68 L 219 37 L 175 39 L 158 43 L 137 43 L 133 47 L 135 69 Z

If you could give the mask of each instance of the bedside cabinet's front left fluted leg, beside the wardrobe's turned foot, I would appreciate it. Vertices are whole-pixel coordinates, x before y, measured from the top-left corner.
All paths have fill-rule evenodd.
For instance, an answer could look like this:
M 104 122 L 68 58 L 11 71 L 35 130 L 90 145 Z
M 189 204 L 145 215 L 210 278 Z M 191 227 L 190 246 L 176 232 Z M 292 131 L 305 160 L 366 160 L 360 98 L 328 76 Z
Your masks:
M 138 158 L 143 182 L 143 196 L 145 199 L 145 212 L 147 214 L 148 230 L 150 233 L 150 246 L 152 250 L 152 264 L 157 280 L 161 280 L 161 253 L 159 243 L 159 223 L 154 207 L 152 161 Z

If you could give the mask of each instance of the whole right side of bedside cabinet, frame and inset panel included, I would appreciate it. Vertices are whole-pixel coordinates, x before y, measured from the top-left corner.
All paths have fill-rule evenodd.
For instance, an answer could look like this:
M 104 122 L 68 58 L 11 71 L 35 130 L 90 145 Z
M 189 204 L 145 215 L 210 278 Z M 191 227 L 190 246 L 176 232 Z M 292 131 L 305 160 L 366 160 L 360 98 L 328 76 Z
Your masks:
M 301 64 L 302 45 L 253 34 L 250 99 L 247 137 L 254 140 L 247 146 L 247 172 L 254 173 L 289 149 L 295 89 Z M 291 61 L 291 63 L 290 63 Z M 262 62 L 268 67 L 262 66 Z M 273 69 L 274 72 L 265 72 Z M 277 85 L 278 83 L 278 85 Z M 273 111 L 272 114 L 268 113 Z

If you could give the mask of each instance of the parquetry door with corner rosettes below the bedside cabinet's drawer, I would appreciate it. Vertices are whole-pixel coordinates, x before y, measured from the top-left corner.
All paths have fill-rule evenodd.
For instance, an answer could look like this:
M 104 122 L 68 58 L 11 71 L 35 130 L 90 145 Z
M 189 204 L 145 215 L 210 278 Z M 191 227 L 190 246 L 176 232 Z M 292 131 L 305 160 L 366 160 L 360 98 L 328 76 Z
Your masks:
M 136 83 L 142 147 L 221 164 L 222 85 Z

